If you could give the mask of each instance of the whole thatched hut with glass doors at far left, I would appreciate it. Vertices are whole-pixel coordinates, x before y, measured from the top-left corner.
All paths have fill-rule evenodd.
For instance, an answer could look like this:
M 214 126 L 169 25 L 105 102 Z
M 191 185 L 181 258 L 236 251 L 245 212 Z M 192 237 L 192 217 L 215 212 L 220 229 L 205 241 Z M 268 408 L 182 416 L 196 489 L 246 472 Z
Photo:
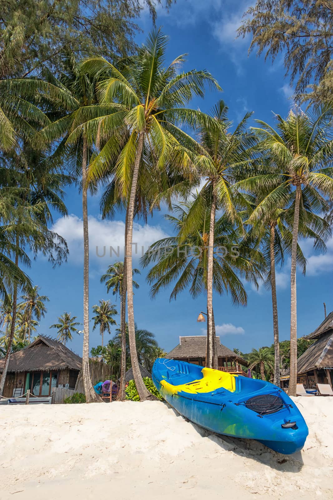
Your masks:
M 0 359 L 0 373 L 4 359 Z M 39 335 L 30 345 L 9 356 L 3 396 L 18 397 L 27 389 L 49 396 L 53 387 L 74 389 L 82 358 L 53 338 Z

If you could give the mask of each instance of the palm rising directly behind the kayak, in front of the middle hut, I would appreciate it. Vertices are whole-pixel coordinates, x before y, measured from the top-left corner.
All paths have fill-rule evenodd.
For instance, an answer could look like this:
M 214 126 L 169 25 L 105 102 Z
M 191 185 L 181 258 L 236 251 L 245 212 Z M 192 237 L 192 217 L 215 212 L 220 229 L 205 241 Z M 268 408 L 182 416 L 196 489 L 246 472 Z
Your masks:
M 217 357 L 213 355 L 215 343 L 214 317 L 213 317 L 213 253 L 214 253 L 214 229 L 215 214 L 218 210 L 223 210 L 230 220 L 237 222 L 240 226 L 242 220 L 237 212 L 237 196 L 233 191 L 235 179 L 234 170 L 241 165 L 247 164 L 256 146 L 256 139 L 253 133 L 246 131 L 247 120 L 251 112 L 246 113 L 244 118 L 235 130 L 230 132 L 232 123 L 228 120 L 228 106 L 223 100 L 219 100 L 211 110 L 214 125 L 204 124 L 199 131 L 200 148 L 196 157 L 196 165 L 201 174 L 205 177 L 205 183 L 191 206 L 187 217 L 187 224 L 184 225 L 185 237 L 190 230 L 200 224 L 203 217 L 203 210 L 206 210 L 207 203 L 210 207 L 210 222 L 207 232 L 208 240 L 208 263 L 207 263 L 207 366 L 212 367 L 212 360 Z M 215 351 L 215 349 L 214 349 Z M 217 366 L 215 366 L 217 368 Z

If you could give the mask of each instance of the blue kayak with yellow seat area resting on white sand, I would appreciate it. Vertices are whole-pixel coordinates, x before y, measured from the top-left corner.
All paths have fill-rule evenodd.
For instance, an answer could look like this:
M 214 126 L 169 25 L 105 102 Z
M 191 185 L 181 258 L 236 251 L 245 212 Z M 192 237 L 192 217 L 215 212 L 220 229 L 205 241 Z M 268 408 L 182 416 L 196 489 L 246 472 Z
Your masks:
M 165 358 L 154 362 L 152 378 L 171 406 L 206 429 L 256 439 L 285 454 L 304 446 L 308 426 L 277 385 Z

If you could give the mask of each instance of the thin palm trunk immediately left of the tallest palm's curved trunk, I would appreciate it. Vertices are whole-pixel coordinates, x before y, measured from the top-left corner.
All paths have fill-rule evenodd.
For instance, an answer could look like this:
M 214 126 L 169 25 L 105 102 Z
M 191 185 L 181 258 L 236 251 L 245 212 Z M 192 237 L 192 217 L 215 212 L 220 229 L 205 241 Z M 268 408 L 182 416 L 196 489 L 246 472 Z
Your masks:
M 126 398 L 125 392 L 125 373 L 126 373 L 126 265 L 127 265 L 127 226 L 128 226 L 128 206 L 126 210 L 125 219 L 125 252 L 124 252 L 124 267 L 123 267 L 123 277 L 121 281 L 121 297 L 120 297 L 120 334 L 121 334 L 121 354 L 120 354 L 120 380 L 119 380 L 119 392 L 117 395 L 118 401 L 123 401 Z

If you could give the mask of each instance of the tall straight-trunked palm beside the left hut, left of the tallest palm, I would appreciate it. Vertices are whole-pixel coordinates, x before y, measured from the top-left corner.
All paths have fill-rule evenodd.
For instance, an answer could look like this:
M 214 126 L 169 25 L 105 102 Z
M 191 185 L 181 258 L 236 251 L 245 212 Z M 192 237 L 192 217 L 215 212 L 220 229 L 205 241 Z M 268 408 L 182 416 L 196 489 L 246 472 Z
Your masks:
M 94 119 L 110 111 L 109 105 L 97 105 L 95 92 L 96 79 L 75 60 L 74 55 L 64 59 L 63 71 L 49 77 L 49 86 L 61 92 L 58 100 L 58 118 L 40 132 L 48 143 L 61 139 L 56 157 L 68 158 L 69 165 L 78 178 L 82 188 L 83 218 L 83 354 L 82 373 L 87 402 L 101 402 L 91 383 L 89 369 L 89 235 L 87 210 L 87 166 L 93 152 L 96 137 L 89 141 L 83 125 L 87 116 Z

